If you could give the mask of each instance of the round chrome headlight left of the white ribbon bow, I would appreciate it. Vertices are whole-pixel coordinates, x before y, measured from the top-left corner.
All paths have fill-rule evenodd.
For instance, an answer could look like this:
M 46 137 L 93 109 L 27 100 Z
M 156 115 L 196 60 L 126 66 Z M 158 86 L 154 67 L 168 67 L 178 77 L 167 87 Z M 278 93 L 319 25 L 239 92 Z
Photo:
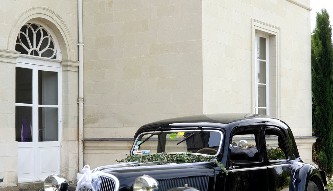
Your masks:
M 68 188 L 68 181 L 59 174 L 48 176 L 44 181 L 45 191 L 65 191 Z

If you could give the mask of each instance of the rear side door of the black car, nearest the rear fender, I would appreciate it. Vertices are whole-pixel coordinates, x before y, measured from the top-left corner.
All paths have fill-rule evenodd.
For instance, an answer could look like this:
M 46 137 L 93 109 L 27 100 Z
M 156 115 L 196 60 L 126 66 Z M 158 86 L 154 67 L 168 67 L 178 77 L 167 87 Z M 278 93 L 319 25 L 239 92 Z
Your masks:
M 270 191 L 294 189 L 290 169 L 290 152 L 284 133 L 278 127 L 264 126 L 267 178 Z M 291 189 L 291 190 L 292 190 Z

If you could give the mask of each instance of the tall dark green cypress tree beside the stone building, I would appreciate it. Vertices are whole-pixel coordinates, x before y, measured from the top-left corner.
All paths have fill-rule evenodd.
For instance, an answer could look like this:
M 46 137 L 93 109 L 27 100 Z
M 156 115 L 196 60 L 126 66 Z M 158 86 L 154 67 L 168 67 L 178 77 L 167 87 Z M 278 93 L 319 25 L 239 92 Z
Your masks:
M 313 161 L 327 173 L 333 169 L 333 47 L 326 9 L 317 12 L 311 36 L 312 129 L 318 137 Z

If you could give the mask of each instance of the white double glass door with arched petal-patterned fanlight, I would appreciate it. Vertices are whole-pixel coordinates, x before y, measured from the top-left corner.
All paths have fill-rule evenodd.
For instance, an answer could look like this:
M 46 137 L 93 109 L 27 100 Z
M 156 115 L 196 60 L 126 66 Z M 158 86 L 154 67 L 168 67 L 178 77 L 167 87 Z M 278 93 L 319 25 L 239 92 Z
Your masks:
M 21 52 L 15 83 L 19 183 L 44 180 L 61 168 L 61 54 L 52 30 L 36 22 L 21 28 L 15 44 Z

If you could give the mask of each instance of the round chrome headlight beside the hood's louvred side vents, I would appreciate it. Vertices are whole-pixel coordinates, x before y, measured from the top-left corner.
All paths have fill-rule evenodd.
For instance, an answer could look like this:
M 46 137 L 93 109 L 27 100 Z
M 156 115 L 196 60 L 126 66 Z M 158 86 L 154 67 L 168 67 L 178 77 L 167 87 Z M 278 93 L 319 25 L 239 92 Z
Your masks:
M 133 191 L 157 191 L 159 183 L 148 175 L 139 176 L 133 184 Z

